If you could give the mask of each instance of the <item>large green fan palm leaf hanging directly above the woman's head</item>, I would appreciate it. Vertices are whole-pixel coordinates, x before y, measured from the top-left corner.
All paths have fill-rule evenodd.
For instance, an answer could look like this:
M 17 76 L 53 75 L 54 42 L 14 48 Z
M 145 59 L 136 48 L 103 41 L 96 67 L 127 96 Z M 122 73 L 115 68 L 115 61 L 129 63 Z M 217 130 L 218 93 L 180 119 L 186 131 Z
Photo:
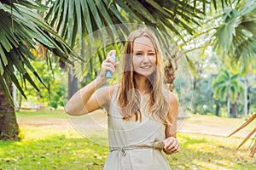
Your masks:
M 201 4 L 205 5 L 206 3 L 207 1 L 201 1 Z M 114 38 L 117 35 L 117 37 L 125 37 L 130 30 L 125 25 L 119 26 L 122 23 L 153 26 L 165 34 L 168 39 L 173 38 L 169 32 L 171 29 L 180 39 L 183 39 L 180 32 L 196 33 L 193 25 L 199 26 L 199 20 L 204 14 L 201 7 L 181 0 L 76 0 L 74 3 L 69 0 L 56 0 L 51 2 L 50 6 L 46 19 L 51 26 L 55 26 L 55 29 L 61 32 L 61 37 L 64 37 L 72 47 L 74 47 L 77 37 L 79 46 L 82 47 L 82 39 L 97 30 L 101 31 L 103 39 Z M 58 16 L 55 15 L 60 16 L 61 20 L 56 20 Z M 76 28 L 76 25 L 78 25 L 78 31 L 73 29 L 73 27 Z M 113 25 L 114 27 L 112 27 Z M 102 31 L 102 28 L 106 26 L 110 26 L 111 31 Z M 90 41 L 94 42 L 94 37 L 91 37 Z M 165 43 L 163 42 L 163 44 Z M 168 53 L 170 52 L 168 51 Z

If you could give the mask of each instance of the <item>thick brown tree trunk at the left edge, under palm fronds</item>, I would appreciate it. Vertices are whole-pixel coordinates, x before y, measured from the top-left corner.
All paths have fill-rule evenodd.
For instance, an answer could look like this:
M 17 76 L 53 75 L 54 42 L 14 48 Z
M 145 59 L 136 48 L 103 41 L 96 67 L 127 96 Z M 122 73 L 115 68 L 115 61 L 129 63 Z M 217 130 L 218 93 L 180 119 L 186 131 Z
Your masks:
M 12 83 L 9 82 L 9 91 L 13 91 Z M 0 86 L 0 139 L 18 140 L 19 125 L 15 116 L 15 107 L 9 104 L 9 100 Z

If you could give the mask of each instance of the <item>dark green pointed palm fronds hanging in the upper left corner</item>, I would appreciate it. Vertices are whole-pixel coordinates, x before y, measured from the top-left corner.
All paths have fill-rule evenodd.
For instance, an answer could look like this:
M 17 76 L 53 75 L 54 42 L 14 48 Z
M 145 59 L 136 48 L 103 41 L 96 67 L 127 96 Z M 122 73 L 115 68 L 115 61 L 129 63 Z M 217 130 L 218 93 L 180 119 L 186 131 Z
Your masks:
M 29 82 L 37 90 L 31 75 L 42 82 L 31 64 L 35 57 L 30 48 L 37 48 L 39 42 L 63 60 L 67 60 L 67 54 L 71 53 L 61 37 L 35 13 L 38 9 L 44 10 L 45 7 L 30 0 L 0 1 L 0 84 L 11 104 L 13 101 L 7 82 L 14 82 L 20 93 L 26 97 L 15 75 L 15 69 L 23 81 Z

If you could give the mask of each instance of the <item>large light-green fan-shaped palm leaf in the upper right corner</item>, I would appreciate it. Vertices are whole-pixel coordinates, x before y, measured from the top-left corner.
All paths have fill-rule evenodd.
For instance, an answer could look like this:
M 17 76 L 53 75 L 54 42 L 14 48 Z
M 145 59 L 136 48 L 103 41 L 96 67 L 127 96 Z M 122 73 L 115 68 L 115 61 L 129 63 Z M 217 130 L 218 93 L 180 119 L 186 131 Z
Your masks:
M 235 8 L 226 8 L 222 23 L 214 34 L 215 49 L 226 58 L 233 59 L 233 65 L 241 65 L 243 74 L 247 67 L 255 69 L 256 59 L 256 1 L 236 3 Z

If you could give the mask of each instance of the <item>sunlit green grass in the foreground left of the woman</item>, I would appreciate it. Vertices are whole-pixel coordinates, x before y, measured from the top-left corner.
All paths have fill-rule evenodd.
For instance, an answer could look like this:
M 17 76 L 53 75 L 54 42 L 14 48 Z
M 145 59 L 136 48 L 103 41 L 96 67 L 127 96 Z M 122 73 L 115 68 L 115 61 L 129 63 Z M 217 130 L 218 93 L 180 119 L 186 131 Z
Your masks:
M 94 144 L 75 132 L 68 132 L 68 135 L 67 132 L 52 131 L 48 135 L 45 133 L 44 139 L 32 139 L 30 142 L 26 139 L 26 135 L 21 142 L 1 141 L 1 168 L 101 169 L 103 166 L 108 147 Z M 31 138 L 30 134 L 28 136 Z

